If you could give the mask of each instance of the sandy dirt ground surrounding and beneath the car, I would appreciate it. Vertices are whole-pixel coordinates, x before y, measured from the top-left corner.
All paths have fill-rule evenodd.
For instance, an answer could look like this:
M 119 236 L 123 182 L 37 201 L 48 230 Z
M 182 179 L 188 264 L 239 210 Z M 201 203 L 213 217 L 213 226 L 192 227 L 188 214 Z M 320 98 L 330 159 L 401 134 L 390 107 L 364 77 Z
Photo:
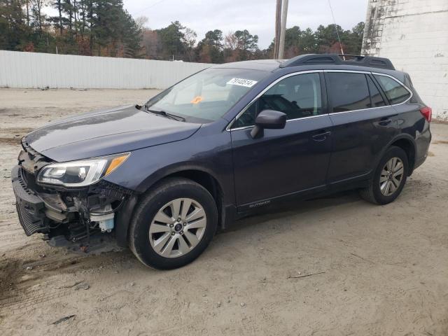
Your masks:
M 152 94 L 0 90 L 0 335 L 448 335 L 448 125 L 431 125 L 430 157 L 392 204 L 293 202 L 237 221 L 182 269 L 26 237 L 10 186 L 18 139 Z

